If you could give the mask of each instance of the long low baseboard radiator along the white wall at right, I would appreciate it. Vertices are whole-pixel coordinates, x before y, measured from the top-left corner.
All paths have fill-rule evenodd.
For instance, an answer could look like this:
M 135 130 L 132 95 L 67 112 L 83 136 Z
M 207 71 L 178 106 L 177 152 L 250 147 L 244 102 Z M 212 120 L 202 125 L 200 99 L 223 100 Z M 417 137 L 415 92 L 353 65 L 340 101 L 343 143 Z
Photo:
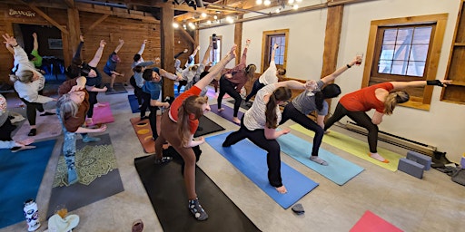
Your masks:
M 349 131 L 354 131 L 359 134 L 367 135 L 368 132 L 366 129 L 362 128 L 361 126 L 357 125 L 352 121 L 347 121 L 345 125 L 345 129 Z M 409 140 L 406 138 L 402 138 L 401 136 L 393 135 L 388 132 L 379 131 L 378 132 L 378 140 L 390 143 L 392 145 L 396 145 L 398 147 L 413 150 L 420 152 L 422 154 L 433 156 L 434 151 L 437 151 L 437 148 L 428 144 L 421 143 L 419 141 Z

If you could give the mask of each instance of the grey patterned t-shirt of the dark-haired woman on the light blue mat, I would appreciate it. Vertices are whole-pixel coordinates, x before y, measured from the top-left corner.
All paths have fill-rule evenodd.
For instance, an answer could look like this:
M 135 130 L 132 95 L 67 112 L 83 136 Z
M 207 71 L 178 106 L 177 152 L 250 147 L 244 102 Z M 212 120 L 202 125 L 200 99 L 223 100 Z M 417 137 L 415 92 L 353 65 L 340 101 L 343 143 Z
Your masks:
M 316 82 L 316 84 L 318 86 L 318 89 L 322 89 L 324 82 L 318 81 Z M 292 105 L 295 107 L 295 109 L 297 109 L 297 111 L 300 111 L 305 115 L 315 110 L 318 112 L 318 115 L 328 114 L 328 102 L 323 101 L 322 111 L 318 111 L 318 109 L 316 109 L 315 94 L 311 91 L 305 90 L 304 92 L 299 94 L 297 97 L 294 98 L 294 100 L 292 100 Z

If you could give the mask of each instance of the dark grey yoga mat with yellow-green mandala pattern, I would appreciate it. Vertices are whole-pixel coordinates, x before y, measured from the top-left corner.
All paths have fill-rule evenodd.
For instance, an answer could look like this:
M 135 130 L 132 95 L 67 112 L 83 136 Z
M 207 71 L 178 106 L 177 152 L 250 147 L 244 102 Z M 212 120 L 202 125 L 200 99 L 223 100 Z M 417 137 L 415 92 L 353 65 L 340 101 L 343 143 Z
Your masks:
M 96 137 L 101 140 L 89 143 L 76 141 L 75 164 L 79 181 L 74 185 L 66 186 L 68 172 L 64 157 L 60 156 L 46 218 L 54 214 L 58 205 L 64 204 L 68 211 L 73 211 L 124 191 L 110 135 Z

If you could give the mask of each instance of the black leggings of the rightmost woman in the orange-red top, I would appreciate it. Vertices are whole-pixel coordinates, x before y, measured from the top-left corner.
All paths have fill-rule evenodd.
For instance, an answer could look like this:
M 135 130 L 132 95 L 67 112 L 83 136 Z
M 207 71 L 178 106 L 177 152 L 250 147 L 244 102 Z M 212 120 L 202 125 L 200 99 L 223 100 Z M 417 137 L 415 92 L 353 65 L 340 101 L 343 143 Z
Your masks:
M 324 131 L 328 130 L 332 124 L 336 121 L 340 121 L 344 116 L 348 116 L 351 120 L 355 121 L 357 125 L 368 130 L 368 145 L 370 146 L 370 152 L 376 153 L 376 147 L 378 145 L 378 126 L 371 122 L 371 118 L 364 111 L 348 111 L 341 105 L 341 103 L 338 103 L 334 114 L 328 119 L 328 121 L 326 121 Z

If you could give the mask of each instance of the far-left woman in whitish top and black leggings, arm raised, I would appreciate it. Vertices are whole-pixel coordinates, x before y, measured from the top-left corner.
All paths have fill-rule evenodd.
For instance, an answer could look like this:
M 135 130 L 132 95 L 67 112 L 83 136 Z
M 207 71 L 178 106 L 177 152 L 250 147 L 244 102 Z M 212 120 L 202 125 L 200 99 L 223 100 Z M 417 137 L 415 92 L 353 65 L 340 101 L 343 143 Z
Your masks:
M 15 37 L 11 37 L 9 34 L 2 36 L 5 39 L 4 43 L 15 50 L 15 67 L 12 71 L 13 74 L 10 75 L 10 80 L 14 82 L 15 91 L 26 105 L 27 121 L 31 126 L 31 131 L 27 135 L 35 136 L 37 133 L 35 111 L 43 112 L 41 116 L 54 115 L 53 112 L 45 111 L 42 104 L 55 100 L 40 94 L 44 89 L 45 77 L 35 69 L 33 63 L 29 62 L 25 50 L 16 42 Z

